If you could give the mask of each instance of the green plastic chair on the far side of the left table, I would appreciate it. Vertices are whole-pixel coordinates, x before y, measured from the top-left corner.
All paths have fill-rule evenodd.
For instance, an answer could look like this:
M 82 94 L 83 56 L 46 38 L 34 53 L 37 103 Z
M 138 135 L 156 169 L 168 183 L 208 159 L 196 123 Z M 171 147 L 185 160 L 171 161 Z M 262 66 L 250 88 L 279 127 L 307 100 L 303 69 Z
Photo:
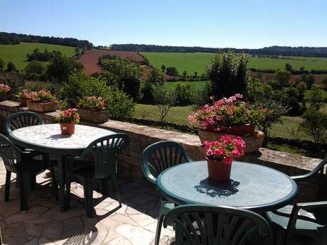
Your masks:
M 4 121 L 4 131 L 6 135 L 10 135 L 12 131 L 15 129 L 21 129 L 26 126 L 35 126 L 35 125 L 42 125 L 45 124 L 42 117 L 39 114 L 36 114 L 31 111 L 21 111 L 17 112 L 14 114 L 10 114 L 6 120 Z M 22 149 L 22 151 L 28 151 L 29 157 L 33 158 L 34 156 L 41 156 L 43 160 L 46 161 L 48 164 L 48 168 L 50 169 L 50 174 L 51 174 L 51 181 L 52 181 L 52 187 L 53 187 L 53 194 L 55 195 L 56 198 L 57 196 L 57 189 L 58 189 L 58 184 L 57 181 L 55 180 L 55 172 L 53 169 L 53 165 L 56 165 L 55 160 L 50 161 L 50 157 L 46 153 L 41 153 L 39 151 L 34 151 L 33 149 Z M 36 183 L 36 176 L 32 176 L 31 178 L 31 185 L 32 187 Z

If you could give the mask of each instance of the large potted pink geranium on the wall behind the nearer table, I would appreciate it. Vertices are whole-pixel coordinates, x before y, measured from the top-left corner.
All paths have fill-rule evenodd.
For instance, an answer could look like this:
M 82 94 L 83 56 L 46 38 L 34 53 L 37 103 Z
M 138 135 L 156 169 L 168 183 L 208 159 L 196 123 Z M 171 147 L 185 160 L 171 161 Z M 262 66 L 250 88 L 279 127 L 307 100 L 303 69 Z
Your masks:
M 243 102 L 242 94 L 223 98 L 212 105 L 206 104 L 188 116 L 191 126 L 198 129 L 202 143 L 218 132 L 237 136 L 254 135 L 255 126 L 263 119 L 265 109 Z M 217 138 L 217 137 L 216 137 Z

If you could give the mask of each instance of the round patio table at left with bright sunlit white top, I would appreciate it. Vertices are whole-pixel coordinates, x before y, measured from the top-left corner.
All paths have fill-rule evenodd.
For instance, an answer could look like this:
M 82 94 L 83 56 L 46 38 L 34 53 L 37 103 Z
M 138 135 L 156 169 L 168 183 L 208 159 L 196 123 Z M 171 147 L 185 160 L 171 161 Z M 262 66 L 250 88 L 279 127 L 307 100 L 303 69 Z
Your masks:
M 75 134 L 65 136 L 60 133 L 59 124 L 26 126 L 11 132 L 9 138 L 16 145 L 57 156 L 60 211 L 68 208 L 65 185 L 65 156 L 80 155 L 95 139 L 116 134 L 114 131 L 94 126 L 75 125 Z

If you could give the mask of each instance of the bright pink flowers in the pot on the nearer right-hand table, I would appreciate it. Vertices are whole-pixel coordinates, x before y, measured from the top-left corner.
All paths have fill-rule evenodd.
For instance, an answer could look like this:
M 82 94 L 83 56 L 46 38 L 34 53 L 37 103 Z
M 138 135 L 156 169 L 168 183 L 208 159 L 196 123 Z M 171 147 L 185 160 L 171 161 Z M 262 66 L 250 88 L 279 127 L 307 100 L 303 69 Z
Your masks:
M 205 141 L 206 158 L 222 160 L 225 164 L 232 163 L 235 158 L 244 156 L 245 142 L 240 136 L 225 134 L 219 141 Z

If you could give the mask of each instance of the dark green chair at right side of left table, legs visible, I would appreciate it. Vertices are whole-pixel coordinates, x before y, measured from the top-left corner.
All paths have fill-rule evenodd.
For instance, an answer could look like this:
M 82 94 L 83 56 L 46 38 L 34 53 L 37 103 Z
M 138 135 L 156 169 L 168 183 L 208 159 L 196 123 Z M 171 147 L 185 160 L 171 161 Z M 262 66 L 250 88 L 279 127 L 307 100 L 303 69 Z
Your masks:
M 90 143 L 81 156 L 68 157 L 70 173 L 68 174 L 68 201 L 70 200 L 70 183 L 73 175 L 82 179 L 85 196 L 85 212 L 87 217 L 94 216 L 92 206 L 93 180 L 101 180 L 104 195 L 108 192 L 108 179 L 112 179 L 114 189 L 117 192 L 119 207 L 122 207 L 119 185 L 117 181 L 117 159 L 119 153 L 129 146 L 127 134 L 112 134 L 104 136 Z M 77 168 L 82 165 L 82 168 Z M 74 166 L 74 168 L 72 168 Z M 69 205 L 69 203 L 68 203 Z

